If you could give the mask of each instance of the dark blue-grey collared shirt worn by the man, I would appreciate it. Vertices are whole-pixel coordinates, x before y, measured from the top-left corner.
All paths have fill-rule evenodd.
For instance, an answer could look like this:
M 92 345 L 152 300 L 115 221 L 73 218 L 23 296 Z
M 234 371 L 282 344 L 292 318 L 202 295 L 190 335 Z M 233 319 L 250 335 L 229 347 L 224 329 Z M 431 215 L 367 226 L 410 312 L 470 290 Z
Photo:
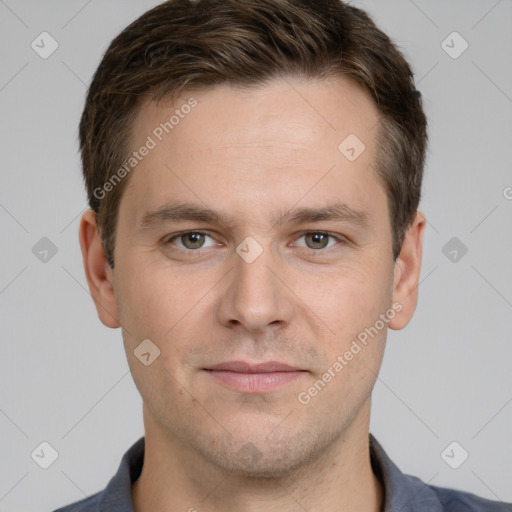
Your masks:
M 370 435 L 372 469 L 384 489 L 382 512 L 512 512 L 512 503 L 491 501 L 475 494 L 436 487 L 403 474 Z M 144 461 L 144 437 L 124 454 L 117 473 L 107 487 L 92 496 L 54 512 L 135 512 L 131 485 Z

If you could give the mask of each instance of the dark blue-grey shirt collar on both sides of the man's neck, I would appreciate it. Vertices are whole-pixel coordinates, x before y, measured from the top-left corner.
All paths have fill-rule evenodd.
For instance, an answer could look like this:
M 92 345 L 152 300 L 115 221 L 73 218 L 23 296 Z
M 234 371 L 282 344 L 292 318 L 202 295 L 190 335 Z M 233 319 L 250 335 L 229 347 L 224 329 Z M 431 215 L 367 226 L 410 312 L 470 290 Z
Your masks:
M 370 461 L 384 491 L 382 512 L 441 512 L 436 493 L 419 478 L 404 475 L 372 434 Z M 124 454 L 117 473 L 98 494 L 98 512 L 135 512 L 131 485 L 140 476 L 144 462 L 144 437 Z

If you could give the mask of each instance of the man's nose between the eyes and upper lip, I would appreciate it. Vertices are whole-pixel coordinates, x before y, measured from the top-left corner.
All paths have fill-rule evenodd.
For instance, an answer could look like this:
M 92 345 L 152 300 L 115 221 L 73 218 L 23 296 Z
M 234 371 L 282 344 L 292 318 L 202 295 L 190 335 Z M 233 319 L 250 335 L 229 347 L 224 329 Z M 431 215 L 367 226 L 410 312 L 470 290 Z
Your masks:
M 230 328 L 263 333 L 288 325 L 293 314 L 293 292 L 283 265 L 268 246 L 254 260 L 234 255 L 218 309 L 220 322 Z M 253 250 L 253 248 L 251 248 Z

